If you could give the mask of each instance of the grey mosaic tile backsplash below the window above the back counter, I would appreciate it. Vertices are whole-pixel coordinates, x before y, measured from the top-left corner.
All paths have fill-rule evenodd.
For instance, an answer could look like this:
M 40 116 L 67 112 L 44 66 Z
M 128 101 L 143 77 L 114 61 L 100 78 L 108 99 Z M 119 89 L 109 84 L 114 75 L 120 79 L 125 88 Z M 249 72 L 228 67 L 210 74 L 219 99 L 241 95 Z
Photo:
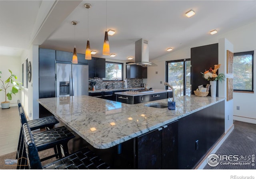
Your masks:
M 143 83 L 143 79 L 125 79 L 127 81 L 127 88 L 136 88 L 140 87 Z M 92 89 L 90 85 L 91 82 L 95 82 L 96 89 L 105 89 L 106 85 L 108 85 L 108 89 L 114 89 L 116 83 L 116 88 L 124 89 L 124 81 L 103 81 L 102 78 L 90 78 L 89 79 L 89 88 Z

